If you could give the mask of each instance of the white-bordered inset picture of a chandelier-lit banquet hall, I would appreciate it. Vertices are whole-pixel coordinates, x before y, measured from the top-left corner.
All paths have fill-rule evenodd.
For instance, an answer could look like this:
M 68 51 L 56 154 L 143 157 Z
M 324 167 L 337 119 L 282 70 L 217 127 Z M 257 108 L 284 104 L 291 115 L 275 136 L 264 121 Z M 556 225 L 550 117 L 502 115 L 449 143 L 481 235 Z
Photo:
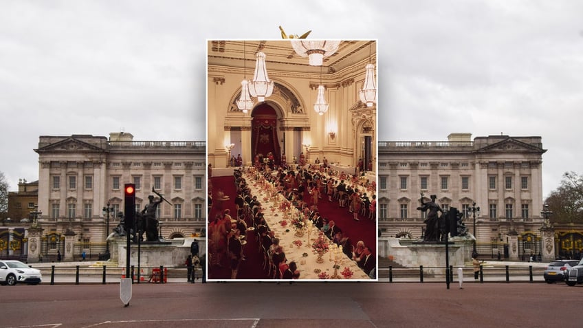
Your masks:
M 207 46 L 208 278 L 374 280 L 377 41 Z

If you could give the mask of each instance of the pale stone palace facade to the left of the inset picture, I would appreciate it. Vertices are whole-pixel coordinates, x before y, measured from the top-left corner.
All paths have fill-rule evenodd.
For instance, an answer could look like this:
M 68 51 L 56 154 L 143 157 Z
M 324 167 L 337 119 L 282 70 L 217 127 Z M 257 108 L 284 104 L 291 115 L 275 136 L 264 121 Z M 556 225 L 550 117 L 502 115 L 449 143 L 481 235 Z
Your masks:
M 205 142 L 135 141 L 131 133 L 41 136 L 34 151 L 39 214 L 32 227 L 42 236 L 41 256 L 63 253 L 67 236 L 74 241 L 67 254 L 78 258 L 85 252 L 87 259 L 103 254 L 124 210 L 124 184 L 135 184 L 136 210 L 154 191 L 164 195 L 167 202 L 156 213 L 164 239 L 205 233 Z

